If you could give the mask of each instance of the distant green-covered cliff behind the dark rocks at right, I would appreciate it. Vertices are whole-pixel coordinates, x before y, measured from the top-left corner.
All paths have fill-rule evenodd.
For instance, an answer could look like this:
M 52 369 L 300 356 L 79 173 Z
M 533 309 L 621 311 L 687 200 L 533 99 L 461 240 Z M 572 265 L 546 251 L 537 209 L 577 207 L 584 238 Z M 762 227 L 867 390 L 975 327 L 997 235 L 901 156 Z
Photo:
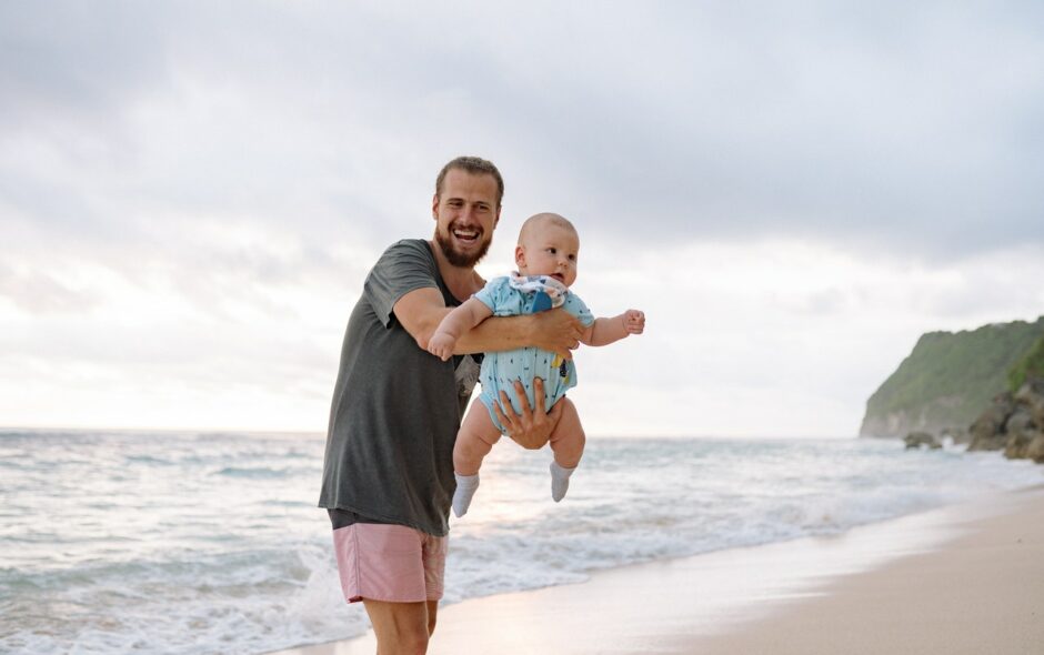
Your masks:
M 977 330 L 928 332 L 866 402 L 861 436 L 948 432 L 968 425 L 993 396 L 1044 369 L 1044 316 Z

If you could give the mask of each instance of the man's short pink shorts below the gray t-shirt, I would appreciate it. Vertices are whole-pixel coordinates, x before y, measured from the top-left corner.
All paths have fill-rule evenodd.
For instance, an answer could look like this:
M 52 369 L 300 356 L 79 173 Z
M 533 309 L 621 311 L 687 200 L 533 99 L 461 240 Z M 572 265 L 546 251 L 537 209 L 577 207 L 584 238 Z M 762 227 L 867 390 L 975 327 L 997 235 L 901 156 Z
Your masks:
M 334 530 L 333 550 L 344 599 L 441 599 L 449 540 L 405 525 L 354 523 Z

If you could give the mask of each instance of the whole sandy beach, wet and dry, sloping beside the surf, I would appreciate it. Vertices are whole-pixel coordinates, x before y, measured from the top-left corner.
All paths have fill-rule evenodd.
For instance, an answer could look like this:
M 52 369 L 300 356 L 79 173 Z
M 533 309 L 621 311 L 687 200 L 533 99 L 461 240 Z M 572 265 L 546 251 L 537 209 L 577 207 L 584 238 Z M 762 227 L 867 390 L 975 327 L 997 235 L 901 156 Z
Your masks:
M 429 653 L 1040 654 L 1044 487 L 444 607 Z M 280 655 L 372 654 L 371 634 Z

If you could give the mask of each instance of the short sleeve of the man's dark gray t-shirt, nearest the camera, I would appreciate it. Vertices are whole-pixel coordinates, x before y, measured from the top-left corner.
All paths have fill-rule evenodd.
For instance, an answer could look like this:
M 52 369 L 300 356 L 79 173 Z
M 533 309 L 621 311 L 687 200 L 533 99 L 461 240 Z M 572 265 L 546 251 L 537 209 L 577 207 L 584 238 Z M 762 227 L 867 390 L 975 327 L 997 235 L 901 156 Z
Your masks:
M 374 313 L 388 328 L 395 303 L 418 289 L 439 288 L 434 262 L 423 241 L 400 241 L 391 245 L 373 265 L 363 285 Z

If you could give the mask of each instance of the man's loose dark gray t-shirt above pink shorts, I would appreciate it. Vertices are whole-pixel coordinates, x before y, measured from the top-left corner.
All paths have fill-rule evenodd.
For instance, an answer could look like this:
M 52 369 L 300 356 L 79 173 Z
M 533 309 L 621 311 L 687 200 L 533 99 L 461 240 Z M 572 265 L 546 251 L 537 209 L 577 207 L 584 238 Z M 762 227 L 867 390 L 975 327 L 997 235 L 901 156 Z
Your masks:
M 319 506 L 443 536 L 453 442 L 479 364 L 471 355 L 441 361 L 399 323 L 395 303 L 425 288 L 460 304 L 420 239 L 393 244 L 367 278 L 341 347 Z

